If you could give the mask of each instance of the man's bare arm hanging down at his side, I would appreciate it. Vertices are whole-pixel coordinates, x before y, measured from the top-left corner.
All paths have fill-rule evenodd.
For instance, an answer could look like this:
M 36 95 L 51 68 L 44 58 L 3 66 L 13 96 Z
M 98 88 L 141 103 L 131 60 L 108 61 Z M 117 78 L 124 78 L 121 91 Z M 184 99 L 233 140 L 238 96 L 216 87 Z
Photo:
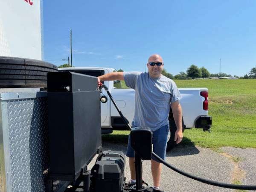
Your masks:
M 179 101 L 171 103 L 173 118 L 177 127 L 177 131 L 175 132 L 174 140 L 176 143 L 180 143 L 183 138 L 182 132 L 182 109 Z

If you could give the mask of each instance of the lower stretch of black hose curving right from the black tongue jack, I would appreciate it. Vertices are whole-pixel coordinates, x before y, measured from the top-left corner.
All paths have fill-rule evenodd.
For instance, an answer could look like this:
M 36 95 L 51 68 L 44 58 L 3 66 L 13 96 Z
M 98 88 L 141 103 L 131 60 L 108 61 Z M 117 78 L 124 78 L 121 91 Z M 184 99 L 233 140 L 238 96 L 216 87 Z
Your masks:
M 179 173 L 181 175 L 184 175 L 186 177 L 189 177 L 191 179 L 198 180 L 198 181 L 200 181 L 202 183 L 206 183 L 206 184 L 214 185 L 214 186 L 219 186 L 219 187 L 224 187 L 224 188 L 229 188 L 229 189 L 241 189 L 241 190 L 253 190 L 253 191 L 256 191 L 256 186 L 255 185 L 233 185 L 233 184 L 227 184 L 227 183 L 220 183 L 220 182 L 217 182 L 217 181 L 203 179 L 201 177 L 197 177 L 195 175 L 191 175 L 191 174 L 183 172 L 180 169 L 177 169 L 174 166 L 172 166 L 171 164 L 167 163 L 161 157 L 159 157 L 157 154 L 155 154 L 153 151 L 152 151 L 152 155 L 154 157 L 156 157 L 157 160 L 159 160 L 165 166 L 169 167 L 170 169 L 174 170 L 175 172 L 177 172 L 177 173 Z

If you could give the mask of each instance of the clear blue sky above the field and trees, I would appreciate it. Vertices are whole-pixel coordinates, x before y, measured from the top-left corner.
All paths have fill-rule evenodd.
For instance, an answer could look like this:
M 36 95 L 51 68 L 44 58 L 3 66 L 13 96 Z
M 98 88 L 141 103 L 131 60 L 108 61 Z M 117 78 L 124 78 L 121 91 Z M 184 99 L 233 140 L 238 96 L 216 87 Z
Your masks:
M 195 64 L 244 76 L 256 67 L 256 0 L 44 1 L 44 59 L 145 71 L 158 53 L 173 75 Z M 52 59 L 58 59 L 54 61 Z

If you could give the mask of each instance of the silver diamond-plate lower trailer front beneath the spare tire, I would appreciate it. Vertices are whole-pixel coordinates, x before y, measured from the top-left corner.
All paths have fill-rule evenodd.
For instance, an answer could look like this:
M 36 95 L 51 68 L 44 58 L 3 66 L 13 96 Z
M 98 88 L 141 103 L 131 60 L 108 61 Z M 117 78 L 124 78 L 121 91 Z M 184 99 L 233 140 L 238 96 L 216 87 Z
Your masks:
M 0 89 L 0 192 L 45 192 L 49 168 L 47 91 Z M 54 191 L 69 182 L 54 181 Z

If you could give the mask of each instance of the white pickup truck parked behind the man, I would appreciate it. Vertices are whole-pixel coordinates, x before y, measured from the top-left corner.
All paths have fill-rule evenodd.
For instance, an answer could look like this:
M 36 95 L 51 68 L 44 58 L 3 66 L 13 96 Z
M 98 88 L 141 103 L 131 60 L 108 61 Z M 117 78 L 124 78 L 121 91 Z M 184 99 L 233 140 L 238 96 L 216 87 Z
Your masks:
M 95 77 L 116 71 L 112 68 L 103 67 L 69 67 L 58 68 L 58 70 L 60 72 L 71 71 Z M 105 81 L 104 84 L 108 87 L 117 106 L 131 125 L 134 117 L 135 91 L 133 89 L 122 89 L 119 80 Z M 208 116 L 208 89 L 179 88 L 179 91 L 182 95 L 180 104 L 183 111 L 183 130 L 185 128 L 203 128 L 204 131 L 209 131 L 212 125 L 212 116 Z M 102 93 L 108 97 L 104 89 Z M 172 109 L 169 113 L 169 122 L 170 137 L 167 150 L 175 146 L 174 133 L 177 128 L 172 116 Z M 103 134 L 112 133 L 113 130 L 127 130 L 124 121 L 109 98 L 108 102 L 101 104 L 101 125 Z

